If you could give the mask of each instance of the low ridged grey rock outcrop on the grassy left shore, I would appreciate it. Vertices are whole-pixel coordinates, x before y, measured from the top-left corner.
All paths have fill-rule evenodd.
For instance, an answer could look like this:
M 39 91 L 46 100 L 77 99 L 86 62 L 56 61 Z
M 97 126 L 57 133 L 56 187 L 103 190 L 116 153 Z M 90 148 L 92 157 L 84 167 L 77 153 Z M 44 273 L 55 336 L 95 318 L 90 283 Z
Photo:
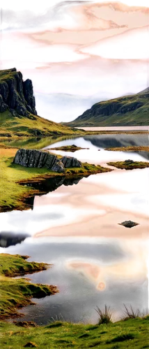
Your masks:
M 55 172 L 65 172 L 65 168 L 81 168 L 81 161 L 70 156 L 63 156 L 59 159 L 49 151 L 40 151 L 36 149 L 19 149 L 15 154 L 13 163 L 26 168 L 48 168 Z

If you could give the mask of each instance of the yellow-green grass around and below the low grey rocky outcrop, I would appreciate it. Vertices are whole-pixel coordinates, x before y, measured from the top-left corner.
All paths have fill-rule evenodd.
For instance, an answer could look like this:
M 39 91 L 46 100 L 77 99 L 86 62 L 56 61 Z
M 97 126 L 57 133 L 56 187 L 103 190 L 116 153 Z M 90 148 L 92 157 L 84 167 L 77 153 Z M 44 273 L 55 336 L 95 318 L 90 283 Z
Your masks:
M 60 175 L 87 175 L 100 172 L 111 171 L 102 166 L 95 166 L 83 163 L 82 168 L 68 168 L 65 173 L 58 173 L 47 170 L 47 168 L 24 168 L 21 165 L 13 163 L 13 158 L 17 149 L 0 149 L 0 210 L 8 209 L 26 209 L 26 198 L 30 195 L 38 195 L 33 187 L 20 186 L 19 181 L 27 181 L 29 179 L 42 179 L 47 177 L 56 177 Z M 60 155 L 57 156 L 61 158 Z M 41 189 L 42 190 L 42 189 Z

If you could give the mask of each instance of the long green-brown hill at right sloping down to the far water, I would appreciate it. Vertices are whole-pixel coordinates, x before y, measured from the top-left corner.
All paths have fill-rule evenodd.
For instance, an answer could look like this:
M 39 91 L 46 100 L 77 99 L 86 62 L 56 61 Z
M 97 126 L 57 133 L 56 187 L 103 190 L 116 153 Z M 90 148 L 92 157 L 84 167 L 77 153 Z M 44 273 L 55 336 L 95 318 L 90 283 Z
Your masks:
M 77 119 L 63 123 L 71 127 L 148 126 L 149 87 L 138 94 L 95 103 Z

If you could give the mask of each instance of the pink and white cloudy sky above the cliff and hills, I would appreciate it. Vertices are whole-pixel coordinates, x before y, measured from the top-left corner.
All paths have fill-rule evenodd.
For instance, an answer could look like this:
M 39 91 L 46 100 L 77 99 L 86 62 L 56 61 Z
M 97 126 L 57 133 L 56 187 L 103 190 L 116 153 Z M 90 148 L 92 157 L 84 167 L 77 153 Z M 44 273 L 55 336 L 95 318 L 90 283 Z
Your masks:
M 5 10 L 19 25 L 1 29 L 1 69 L 21 70 L 42 94 L 137 93 L 148 86 L 148 10 L 115 0 L 56 3 L 31 18 Z M 45 26 L 64 15 L 73 23 Z

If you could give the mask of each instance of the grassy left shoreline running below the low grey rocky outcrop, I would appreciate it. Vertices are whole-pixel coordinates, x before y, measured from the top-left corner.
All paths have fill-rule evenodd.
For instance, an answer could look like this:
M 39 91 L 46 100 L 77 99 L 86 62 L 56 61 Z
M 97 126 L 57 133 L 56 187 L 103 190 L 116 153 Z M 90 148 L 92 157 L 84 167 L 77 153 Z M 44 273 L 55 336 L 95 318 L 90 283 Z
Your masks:
M 45 195 L 49 191 L 36 188 L 39 182 L 65 177 L 65 179 L 81 179 L 91 174 L 101 172 L 111 172 L 110 168 L 104 168 L 100 165 L 82 163 L 81 168 L 68 168 L 65 172 L 53 172 L 47 168 L 24 168 L 20 165 L 13 164 L 13 158 L 17 148 L 1 148 L 1 205 L 0 213 L 12 210 L 26 210 L 33 206 L 33 198 L 36 195 Z M 58 157 L 58 156 L 57 156 Z M 61 157 L 61 156 L 60 156 Z M 12 180 L 13 178 L 13 180 Z M 29 188 L 29 183 L 31 188 Z M 23 184 L 23 185 L 21 185 Z M 35 186 L 33 186 L 35 184 Z M 26 186 L 26 188 L 24 187 Z M 6 188 L 9 195 L 6 196 Z M 5 202 L 6 204 L 2 203 Z

